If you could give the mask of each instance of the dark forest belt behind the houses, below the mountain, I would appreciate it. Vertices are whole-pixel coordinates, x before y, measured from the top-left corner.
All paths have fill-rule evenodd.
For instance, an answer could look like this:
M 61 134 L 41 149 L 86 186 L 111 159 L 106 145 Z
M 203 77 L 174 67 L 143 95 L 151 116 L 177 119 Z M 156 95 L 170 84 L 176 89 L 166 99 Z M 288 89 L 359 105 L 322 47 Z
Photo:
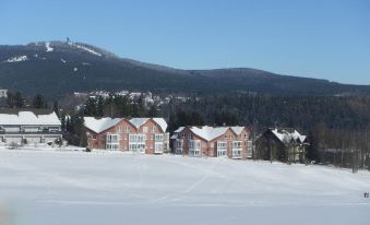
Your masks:
M 32 100 L 10 93 L 9 107 L 49 107 L 59 115 L 58 102 L 47 104 L 36 95 Z M 258 137 L 266 128 L 295 128 L 308 135 L 307 157 L 315 163 L 349 167 L 369 165 L 369 96 L 275 96 L 232 94 L 193 96 L 186 102 L 172 98 L 160 106 L 145 105 L 143 98 L 126 96 L 88 98 L 74 111 L 59 115 L 64 137 L 83 145 L 83 117 L 163 117 L 169 132 L 181 126 L 247 126 Z M 360 151 L 360 153 L 357 153 Z M 358 155 L 359 159 L 354 159 Z M 357 157 L 357 156 L 356 156 Z M 351 162 L 351 163 L 350 163 Z M 355 163 L 354 163 L 355 162 Z M 358 163 L 360 162 L 360 163 Z

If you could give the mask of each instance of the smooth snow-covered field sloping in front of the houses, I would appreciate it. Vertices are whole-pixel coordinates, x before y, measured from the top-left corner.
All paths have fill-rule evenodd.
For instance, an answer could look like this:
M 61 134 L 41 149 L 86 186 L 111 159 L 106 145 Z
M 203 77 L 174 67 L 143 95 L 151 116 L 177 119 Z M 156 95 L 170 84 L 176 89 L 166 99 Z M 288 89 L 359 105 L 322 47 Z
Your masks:
M 0 151 L 0 224 L 370 224 L 370 173 L 120 152 Z M 8 221 L 8 222 L 5 222 Z

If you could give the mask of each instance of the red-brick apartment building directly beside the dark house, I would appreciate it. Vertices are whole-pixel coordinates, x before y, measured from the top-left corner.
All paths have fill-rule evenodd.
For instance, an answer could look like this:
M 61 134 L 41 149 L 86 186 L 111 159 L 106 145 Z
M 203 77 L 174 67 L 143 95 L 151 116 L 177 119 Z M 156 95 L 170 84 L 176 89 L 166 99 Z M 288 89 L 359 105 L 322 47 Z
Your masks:
M 247 158 L 251 151 L 246 127 L 180 127 L 171 137 L 176 154 Z

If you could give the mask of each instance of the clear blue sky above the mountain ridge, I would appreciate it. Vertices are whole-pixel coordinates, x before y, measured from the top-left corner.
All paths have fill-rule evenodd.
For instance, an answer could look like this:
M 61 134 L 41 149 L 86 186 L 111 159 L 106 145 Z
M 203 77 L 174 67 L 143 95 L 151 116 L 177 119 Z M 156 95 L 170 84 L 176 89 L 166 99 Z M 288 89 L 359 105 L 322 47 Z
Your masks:
M 180 69 L 370 84 L 368 0 L 1 0 L 0 44 L 64 40 Z

